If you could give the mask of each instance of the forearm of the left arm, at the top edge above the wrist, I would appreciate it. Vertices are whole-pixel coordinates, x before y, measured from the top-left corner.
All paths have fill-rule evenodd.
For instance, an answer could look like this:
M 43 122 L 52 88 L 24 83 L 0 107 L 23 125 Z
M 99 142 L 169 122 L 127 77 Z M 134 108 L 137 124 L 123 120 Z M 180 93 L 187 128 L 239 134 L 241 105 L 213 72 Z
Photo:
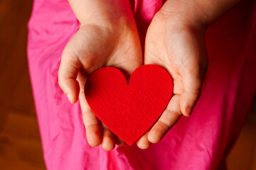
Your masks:
M 68 0 L 81 24 L 133 18 L 129 0 Z

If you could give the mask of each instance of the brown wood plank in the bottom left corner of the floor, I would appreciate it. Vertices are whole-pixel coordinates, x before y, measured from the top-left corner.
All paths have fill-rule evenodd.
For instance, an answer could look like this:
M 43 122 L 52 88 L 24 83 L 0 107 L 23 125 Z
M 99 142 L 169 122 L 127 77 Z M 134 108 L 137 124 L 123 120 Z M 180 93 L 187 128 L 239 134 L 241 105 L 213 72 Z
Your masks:
M 1 169 L 46 169 L 40 142 L 3 133 L 0 142 Z

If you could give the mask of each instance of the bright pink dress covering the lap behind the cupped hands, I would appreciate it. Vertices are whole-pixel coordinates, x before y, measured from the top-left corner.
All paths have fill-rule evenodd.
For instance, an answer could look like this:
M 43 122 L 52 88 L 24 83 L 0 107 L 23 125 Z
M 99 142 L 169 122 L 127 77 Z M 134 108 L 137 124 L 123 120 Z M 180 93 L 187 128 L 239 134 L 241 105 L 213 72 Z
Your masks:
M 136 0 L 143 39 L 161 0 Z M 80 104 L 58 86 L 63 48 L 80 24 L 66 0 L 34 0 L 28 65 L 47 169 L 224 169 L 256 92 L 256 4 L 245 1 L 206 31 L 209 67 L 200 100 L 161 142 L 107 152 L 90 147 Z

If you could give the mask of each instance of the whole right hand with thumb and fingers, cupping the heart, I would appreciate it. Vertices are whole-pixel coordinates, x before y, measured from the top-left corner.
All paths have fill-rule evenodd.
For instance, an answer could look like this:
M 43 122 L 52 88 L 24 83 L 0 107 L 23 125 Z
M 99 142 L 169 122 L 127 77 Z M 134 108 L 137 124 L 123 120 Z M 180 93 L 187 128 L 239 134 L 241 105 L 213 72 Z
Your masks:
M 191 115 L 208 67 L 204 31 L 182 13 L 162 8 L 154 16 L 146 33 L 144 64 L 160 65 L 171 74 L 174 96 L 151 130 L 138 140 L 138 147 L 146 149 L 159 142 L 181 115 Z

